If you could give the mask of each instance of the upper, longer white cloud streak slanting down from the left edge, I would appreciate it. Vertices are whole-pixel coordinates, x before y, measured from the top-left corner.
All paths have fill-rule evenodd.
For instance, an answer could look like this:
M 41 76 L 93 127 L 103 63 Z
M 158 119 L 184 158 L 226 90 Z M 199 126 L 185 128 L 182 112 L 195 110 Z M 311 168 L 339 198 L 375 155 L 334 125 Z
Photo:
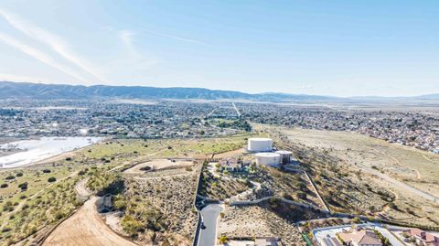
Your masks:
M 64 59 L 69 60 L 71 63 L 78 66 L 81 70 L 84 70 L 91 74 L 95 79 L 99 81 L 104 81 L 101 75 L 95 70 L 92 70 L 92 66 L 89 62 L 81 59 L 78 55 L 74 54 L 68 47 L 69 45 L 61 37 L 54 35 L 47 30 L 37 27 L 26 20 L 15 16 L 14 14 L 6 12 L 4 9 L 0 8 L 0 16 L 3 16 L 5 20 L 17 30 L 23 32 L 28 37 L 37 39 L 37 41 L 48 45 L 55 52 L 57 52 Z

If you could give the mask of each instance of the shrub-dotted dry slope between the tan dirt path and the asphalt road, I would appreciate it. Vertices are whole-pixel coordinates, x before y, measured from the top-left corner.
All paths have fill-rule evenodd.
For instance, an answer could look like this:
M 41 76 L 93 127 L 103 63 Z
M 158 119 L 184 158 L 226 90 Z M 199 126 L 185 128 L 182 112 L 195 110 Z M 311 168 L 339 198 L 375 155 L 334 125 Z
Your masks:
M 194 198 L 199 166 L 181 176 L 130 178 L 126 181 L 125 216 L 145 224 L 145 231 L 134 233 L 141 244 L 149 245 L 155 237 L 164 240 L 178 238 L 178 244 L 188 245 L 194 237 L 197 214 Z M 148 216 L 149 215 L 149 216 Z

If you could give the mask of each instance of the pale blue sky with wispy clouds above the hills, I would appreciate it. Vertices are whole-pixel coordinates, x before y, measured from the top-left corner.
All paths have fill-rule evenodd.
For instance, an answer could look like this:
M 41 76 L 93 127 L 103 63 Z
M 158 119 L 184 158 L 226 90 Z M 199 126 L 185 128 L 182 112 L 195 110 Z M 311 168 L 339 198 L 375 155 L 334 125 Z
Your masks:
M 439 1 L 2 0 L 0 80 L 439 92 Z

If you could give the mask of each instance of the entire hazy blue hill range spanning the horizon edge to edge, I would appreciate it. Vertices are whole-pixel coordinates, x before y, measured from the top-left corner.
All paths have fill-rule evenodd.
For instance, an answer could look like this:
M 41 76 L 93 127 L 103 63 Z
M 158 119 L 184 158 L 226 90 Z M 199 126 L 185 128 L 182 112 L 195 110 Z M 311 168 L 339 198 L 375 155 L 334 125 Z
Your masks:
M 350 102 L 350 103 L 431 103 L 439 100 L 439 94 L 414 97 L 331 97 L 280 92 L 245 93 L 241 91 L 220 91 L 205 88 L 110 86 L 110 85 L 67 85 L 30 82 L 0 81 L 0 99 L 175 99 L 175 100 L 247 100 L 253 102 Z

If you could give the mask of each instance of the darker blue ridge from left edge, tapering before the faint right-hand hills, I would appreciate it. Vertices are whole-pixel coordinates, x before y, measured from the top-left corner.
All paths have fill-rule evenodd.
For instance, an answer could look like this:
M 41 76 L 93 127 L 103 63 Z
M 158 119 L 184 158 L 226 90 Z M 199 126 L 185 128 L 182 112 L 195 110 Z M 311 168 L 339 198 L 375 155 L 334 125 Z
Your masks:
M 327 101 L 337 98 L 284 93 L 250 94 L 240 91 L 219 91 L 203 88 L 157 88 L 145 86 L 80 86 L 0 81 L 0 99 L 202 99 L 250 100 L 265 102 Z

